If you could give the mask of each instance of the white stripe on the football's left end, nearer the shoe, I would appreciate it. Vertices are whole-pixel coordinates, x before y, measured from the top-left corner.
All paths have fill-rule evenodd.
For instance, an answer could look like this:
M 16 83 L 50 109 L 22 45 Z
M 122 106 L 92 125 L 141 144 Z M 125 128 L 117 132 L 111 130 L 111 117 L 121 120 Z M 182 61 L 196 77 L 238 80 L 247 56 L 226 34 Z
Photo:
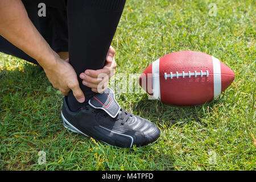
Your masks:
M 153 97 L 157 100 L 160 98 L 160 76 L 159 76 L 159 59 L 152 63 L 152 88 Z

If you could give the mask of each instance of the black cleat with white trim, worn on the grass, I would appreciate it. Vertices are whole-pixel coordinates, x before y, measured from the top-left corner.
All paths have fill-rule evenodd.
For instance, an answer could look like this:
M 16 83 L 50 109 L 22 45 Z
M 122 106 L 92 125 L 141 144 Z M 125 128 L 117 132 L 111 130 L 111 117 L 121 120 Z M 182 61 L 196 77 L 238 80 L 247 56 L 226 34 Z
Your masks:
M 61 117 L 67 129 L 117 147 L 145 146 L 160 136 L 154 123 L 123 110 L 110 88 L 76 112 L 69 110 L 64 97 Z

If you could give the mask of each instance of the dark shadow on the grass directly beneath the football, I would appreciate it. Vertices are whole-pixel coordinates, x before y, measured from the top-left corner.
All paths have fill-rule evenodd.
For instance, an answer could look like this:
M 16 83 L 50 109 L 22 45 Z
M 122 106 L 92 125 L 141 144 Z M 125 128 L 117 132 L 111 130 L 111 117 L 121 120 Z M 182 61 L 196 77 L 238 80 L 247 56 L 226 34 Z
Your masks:
M 141 117 L 150 119 L 159 127 L 163 127 L 163 125 L 171 127 L 174 124 L 188 122 L 197 122 L 200 125 L 207 126 L 207 123 L 203 122 L 202 119 L 209 118 L 214 108 L 219 104 L 218 100 L 213 100 L 204 105 L 174 106 L 164 104 L 158 100 L 148 100 L 147 94 L 144 94 L 143 99 L 133 105 L 133 111 Z

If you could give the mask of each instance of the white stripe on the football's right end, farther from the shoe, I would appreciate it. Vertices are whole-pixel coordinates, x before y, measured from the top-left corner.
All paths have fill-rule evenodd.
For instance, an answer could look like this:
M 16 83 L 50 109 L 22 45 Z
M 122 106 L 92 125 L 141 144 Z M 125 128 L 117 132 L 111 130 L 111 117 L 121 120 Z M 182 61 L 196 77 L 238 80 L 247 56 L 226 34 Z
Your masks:
M 214 98 L 221 94 L 221 65 L 220 60 L 212 56 Z

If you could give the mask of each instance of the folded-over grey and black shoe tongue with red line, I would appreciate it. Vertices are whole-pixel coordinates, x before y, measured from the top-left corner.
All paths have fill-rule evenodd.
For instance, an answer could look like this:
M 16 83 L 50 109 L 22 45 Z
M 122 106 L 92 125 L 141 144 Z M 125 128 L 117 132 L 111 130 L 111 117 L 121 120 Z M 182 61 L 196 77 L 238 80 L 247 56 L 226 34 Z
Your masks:
M 103 93 L 96 94 L 89 100 L 89 105 L 96 108 L 102 109 L 114 118 L 119 113 L 121 107 L 115 100 L 115 94 L 112 89 L 108 88 Z

